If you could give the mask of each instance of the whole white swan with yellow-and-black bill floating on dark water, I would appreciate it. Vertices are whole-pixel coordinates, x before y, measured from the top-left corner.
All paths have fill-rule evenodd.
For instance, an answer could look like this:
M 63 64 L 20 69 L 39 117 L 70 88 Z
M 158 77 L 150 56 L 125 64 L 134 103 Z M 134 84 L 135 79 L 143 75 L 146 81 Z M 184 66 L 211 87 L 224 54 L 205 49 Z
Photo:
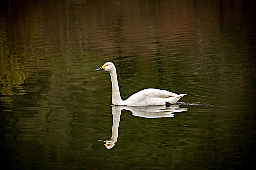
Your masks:
M 127 100 L 123 101 L 120 96 L 119 86 L 117 81 L 117 74 L 115 65 L 111 62 L 105 63 L 96 71 L 105 70 L 110 73 L 112 82 L 112 104 L 126 105 L 126 106 L 152 106 L 165 105 L 166 103 L 174 104 L 187 94 L 175 94 L 166 90 L 159 90 L 155 88 L 147 88 L 131 95 Z

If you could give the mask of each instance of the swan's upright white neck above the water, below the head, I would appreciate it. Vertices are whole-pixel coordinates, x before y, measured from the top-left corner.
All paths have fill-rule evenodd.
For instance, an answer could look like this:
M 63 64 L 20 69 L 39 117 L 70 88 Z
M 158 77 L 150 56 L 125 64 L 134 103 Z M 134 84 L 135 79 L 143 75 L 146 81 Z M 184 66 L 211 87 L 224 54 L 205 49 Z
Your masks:
M 113 105 L 120 105 L 120 102 L 122 101 L 117 81 L 117 74 L 116 69 L 109 72 L 111 77 L 111 83 L 112 83 L 112 104 Z

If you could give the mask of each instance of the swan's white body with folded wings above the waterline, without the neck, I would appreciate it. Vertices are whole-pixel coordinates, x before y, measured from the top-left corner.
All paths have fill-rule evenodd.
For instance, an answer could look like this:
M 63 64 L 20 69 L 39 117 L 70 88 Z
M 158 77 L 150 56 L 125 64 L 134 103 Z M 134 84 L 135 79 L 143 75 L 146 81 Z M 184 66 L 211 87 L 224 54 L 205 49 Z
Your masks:
M 184 95 L 186 94 L 183 94 L 182 96 Z M 130 105 L 130 106 L 165 105 L 166 102 L 175 103 L 175 101 L 174 102 L 172 101 L 179 96 L 180 95 L 177 95 L 170 91 L 160 90 L 155 88 L 147 88 L 131 95 L 127 100 L 122 101 L 121 105 Z M 182 96 L 180 96 L 178 100 Z

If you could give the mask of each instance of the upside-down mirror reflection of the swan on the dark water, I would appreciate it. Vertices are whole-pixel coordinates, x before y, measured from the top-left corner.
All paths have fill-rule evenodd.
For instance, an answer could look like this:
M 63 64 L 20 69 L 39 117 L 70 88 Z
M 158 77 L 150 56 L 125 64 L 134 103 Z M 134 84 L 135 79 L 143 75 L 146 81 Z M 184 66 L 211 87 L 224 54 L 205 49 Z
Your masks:
M 132 112 L 133 116 L 143 118 L 172 118 L 173 113 L 187 112 L 187 108 L 181 108 L 179 105 L 165 106 L 112 106 L 112 133 L 111 138 L 108 140 L 99 140 L 106 142 L 104 145 L 107 149 L 111 149 L 115 146 L 118 138 L 118 127 L 120 122 L 120 116 L 122 110 L 128 110 Z

